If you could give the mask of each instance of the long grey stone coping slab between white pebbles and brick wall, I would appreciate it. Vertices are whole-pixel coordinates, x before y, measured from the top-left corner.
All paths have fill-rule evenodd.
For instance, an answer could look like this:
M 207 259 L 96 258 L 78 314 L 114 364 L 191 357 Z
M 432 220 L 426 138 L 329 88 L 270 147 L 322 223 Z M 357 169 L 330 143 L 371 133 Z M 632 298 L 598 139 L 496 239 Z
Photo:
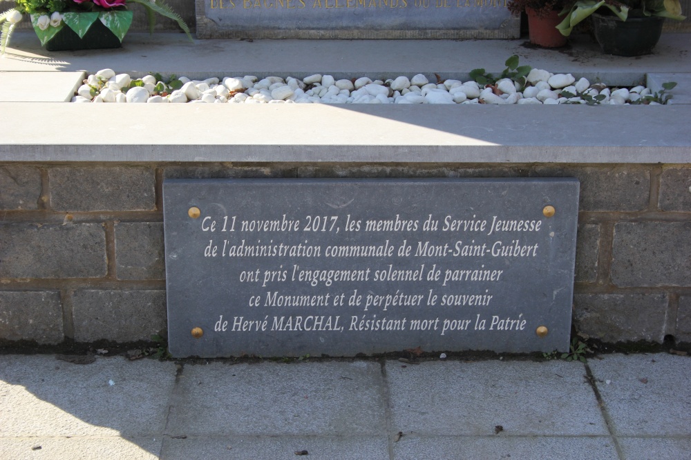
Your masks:
M 36 130 L 37 110 L 79 123 Z M 690 105 L 0 103 L 0 161 L 688 163 L 688 119 Z

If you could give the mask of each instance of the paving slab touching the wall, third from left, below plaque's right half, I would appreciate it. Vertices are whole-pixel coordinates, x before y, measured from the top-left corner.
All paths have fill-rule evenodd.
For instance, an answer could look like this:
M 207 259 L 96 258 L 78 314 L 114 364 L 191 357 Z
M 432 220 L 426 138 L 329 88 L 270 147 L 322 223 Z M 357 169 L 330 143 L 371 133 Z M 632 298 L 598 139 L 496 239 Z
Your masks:
M 387 361 L 392 431 L 419 435 L 609 434 L 582 363 Z

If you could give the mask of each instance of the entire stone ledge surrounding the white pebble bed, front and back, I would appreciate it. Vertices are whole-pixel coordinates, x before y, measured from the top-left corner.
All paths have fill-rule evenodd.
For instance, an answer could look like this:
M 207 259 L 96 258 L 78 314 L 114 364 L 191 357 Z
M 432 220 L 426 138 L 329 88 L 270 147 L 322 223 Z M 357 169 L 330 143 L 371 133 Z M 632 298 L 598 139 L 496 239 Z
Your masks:
M 523 40 L 195 40 L 184 34 L 129 34 L 124 48 L 46 52 L 33 32 L 19 31 L 0 59 L 0 76 L 40 72 L 51 90 L 33 100 L 3 89 L 0 161 L 309 161 L 439 163 L 688 163 L 691 61 L 688 34 L 665 33 L 655 54 L 602 54 L 588 37 L 564 50 L 530 49 Z M 670 107 L 535 106 L 200 106 L 55 104 L 82 71 L 113 68 L 191 78 L 255 74 L 332 74 L 336 78 L 412 76 L 467 79 L 473 68 L 501 72 L 511 54 L 521 63 L 572 72 L 611 85 L 679 77 Z M 228 59 L 219 59 L 219 57 Z M 68 77 L 69 76 L 69 77 Z M 21 76 L 19 77 L 21 78 Z M 1 87 L 1 86 L 0 86 Z M 66 88 L 66 89 L 64 89 Z M 21 90 L 17 90 L 21 93 Z M 53 94 L 55 93 L 55 94 Z M 36 114 L 51 123 L 37 130 Z M 176 129 L 161 130 L 171 120 Z M 105 121 L 105 122 L 104 122 Z M 164 121 L 164 122 L 163 122 Z M 229 122 L 231 121 L 231 122 Z M 86 130 L 84 127 L 95 127 Z M 95 134 L 97 132 L 97 134 Z

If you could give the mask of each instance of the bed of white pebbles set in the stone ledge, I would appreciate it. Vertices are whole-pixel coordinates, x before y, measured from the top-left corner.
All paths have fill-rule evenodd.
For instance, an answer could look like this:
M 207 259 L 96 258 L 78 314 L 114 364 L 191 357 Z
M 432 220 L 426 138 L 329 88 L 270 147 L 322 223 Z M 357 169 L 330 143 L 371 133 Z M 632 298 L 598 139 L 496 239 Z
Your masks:
M 561 104 L 603 103 L 622 105 L 659 102 L 650 88 L 608 88 L 591 84 L 571 74 L 553 74 L 533 69 L 527 86 L 512 79 L 500 79 L 491 86 L 475 81 L 447 79 L 433 83 L 423 74 L 412 78 L 372 80 L 369 77 L 336 80 L 331 75 L 314 74 L 294 77 L 244 77 L 177 79 L 182 87 L 173 89 L 153 75 L 134 80 L 129 74 L 115 74 L 104 69 L 84 81 L 72 102 L 129 103 L 429 103 L 429 104 Z M 134 83 L 133 83 L 134 82 Z M 177 83 L 177 82 L 176 82 Z M 180 83 L 177 83 L 178 86 Z M 138 86 L 133 86 L 138 85 Z

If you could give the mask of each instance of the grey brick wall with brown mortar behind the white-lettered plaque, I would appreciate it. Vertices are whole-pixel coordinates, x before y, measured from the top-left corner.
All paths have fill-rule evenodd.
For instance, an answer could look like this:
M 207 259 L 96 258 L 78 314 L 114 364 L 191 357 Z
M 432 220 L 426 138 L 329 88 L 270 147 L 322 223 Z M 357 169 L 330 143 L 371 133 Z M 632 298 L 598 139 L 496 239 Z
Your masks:
M 218 177 L 577 177 L 574 324 L 691 343 L 691 165 L 0 163 L 0 340 L 166 328 L 162 183 Z

